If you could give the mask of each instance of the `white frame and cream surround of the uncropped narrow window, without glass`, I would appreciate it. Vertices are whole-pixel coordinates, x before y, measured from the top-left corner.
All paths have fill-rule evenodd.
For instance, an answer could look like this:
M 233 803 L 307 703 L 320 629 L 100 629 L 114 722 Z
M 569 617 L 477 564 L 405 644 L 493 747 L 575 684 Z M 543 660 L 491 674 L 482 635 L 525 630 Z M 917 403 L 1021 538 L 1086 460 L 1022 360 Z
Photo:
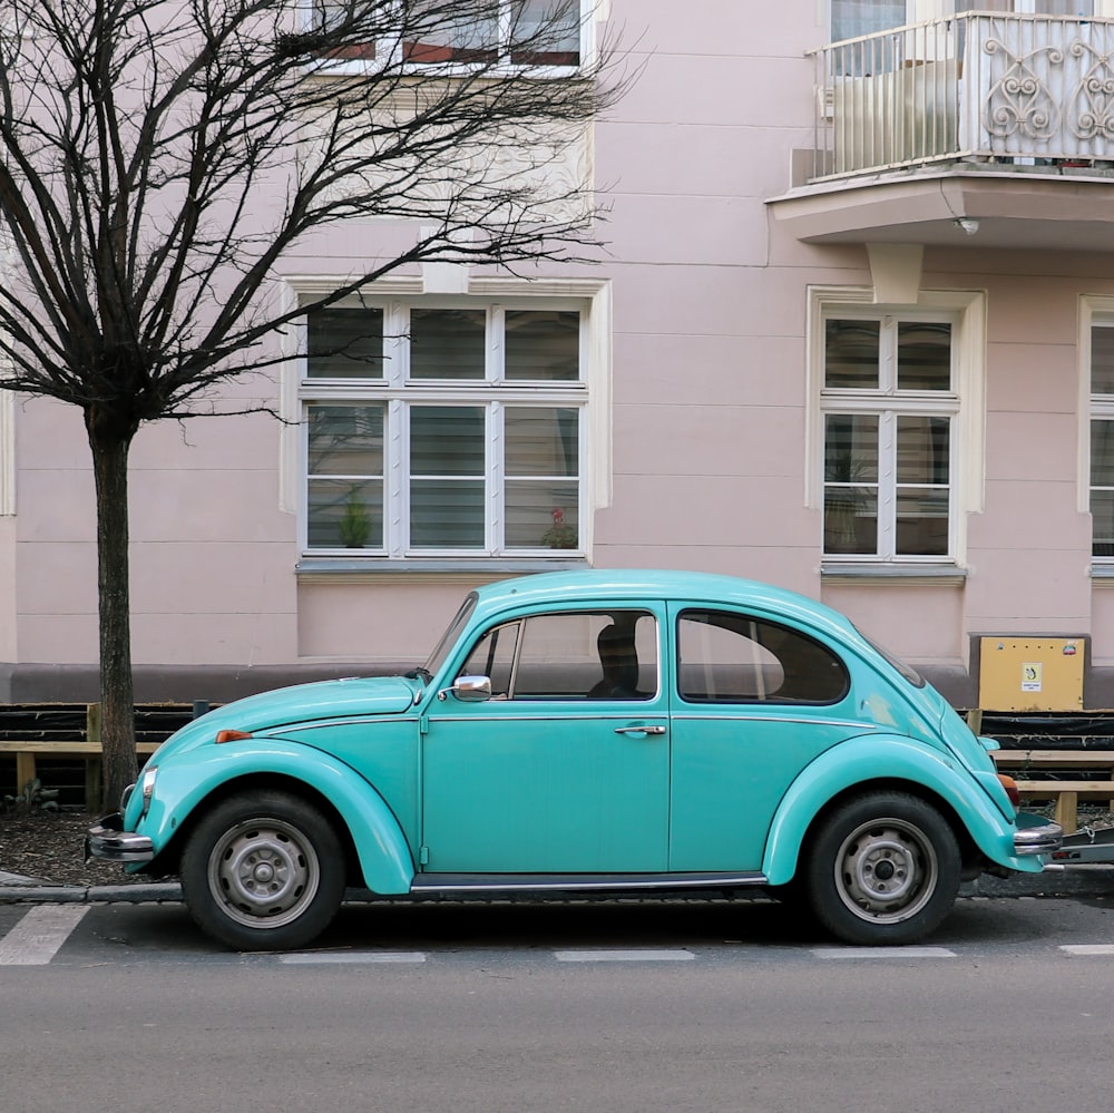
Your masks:
M 983 509 L 986 371 L 986 299 L 980 291 L 921 291 L 915 305 L 876 303 L 871 287 L 811 286 L 809 289 L 809 417 L 805 436 L 805 506 L 819 511 L 818 546 L 828 570 L 905 569 L 912 575 L 928 566 L 962 567 L 966 560 L 967 515 Z M 883 367 L 878 390 L 828 388 L 825 322 L 829 319 L 947 321 L 951 323 L 952 389 L 901 391 Z M 895 361 L 891 359 L 890 363 Z M 873 554 L 828 554 L 823 549 L 824 431 L 829 413 L 879 416 L 878 546 Z M 898 555 L 896 515 L 883 512 L 892 501 L 896 475 L 882 479 L 882 462 L 892 457 L 898 416 L 949 417 L 951 420 L 947 555 Z

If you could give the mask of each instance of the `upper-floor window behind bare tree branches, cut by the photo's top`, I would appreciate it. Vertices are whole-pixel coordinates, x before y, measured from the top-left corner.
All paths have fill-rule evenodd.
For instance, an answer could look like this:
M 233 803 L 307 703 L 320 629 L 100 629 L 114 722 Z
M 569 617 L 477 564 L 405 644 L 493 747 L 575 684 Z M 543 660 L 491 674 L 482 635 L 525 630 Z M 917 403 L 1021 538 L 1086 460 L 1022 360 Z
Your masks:
M 580 65 L 583 0 L 400 0 L 390 33 L 345 57 L 408 66 Z M 344 19 L 339 0 L 316 0 L 326 26 Z

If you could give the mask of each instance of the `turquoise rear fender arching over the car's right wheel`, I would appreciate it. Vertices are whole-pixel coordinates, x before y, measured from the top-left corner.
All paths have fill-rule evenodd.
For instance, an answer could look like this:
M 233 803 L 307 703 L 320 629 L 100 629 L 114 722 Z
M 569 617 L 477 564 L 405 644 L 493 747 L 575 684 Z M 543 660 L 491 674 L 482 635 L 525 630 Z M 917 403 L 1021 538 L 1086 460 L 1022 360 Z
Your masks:
M 1026 872 L 1043 868 L 1039 858 L 1014 855 L 1014 824 L 955 758 L 915 739 L 882 734 L 850 739 L 825 750 L 789 787 L 774 813 L 762 860 L 770 883 L 792 879 L 809 827 L 830 800 L 880 780 L 908 781 L 939 797 L 990 861 Z

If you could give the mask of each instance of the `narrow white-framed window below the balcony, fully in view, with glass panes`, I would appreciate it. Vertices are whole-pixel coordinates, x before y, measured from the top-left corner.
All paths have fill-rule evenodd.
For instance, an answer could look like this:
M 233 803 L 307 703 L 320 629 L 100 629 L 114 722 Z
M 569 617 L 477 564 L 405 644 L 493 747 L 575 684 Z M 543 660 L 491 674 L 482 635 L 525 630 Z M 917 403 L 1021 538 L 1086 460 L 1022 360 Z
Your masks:
M 952 322 L 832 311 L 823 360 L 824 553 L 951 557 Z

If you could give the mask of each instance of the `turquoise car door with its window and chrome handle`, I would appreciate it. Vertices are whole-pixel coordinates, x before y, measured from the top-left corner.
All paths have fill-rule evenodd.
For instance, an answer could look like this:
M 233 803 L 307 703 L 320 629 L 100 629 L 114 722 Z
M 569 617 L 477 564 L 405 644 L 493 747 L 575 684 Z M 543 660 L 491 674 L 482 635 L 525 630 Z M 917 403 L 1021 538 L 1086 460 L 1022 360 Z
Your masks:
M 532 614 L 486 631 L 456 670 L 492 694 L 431 705 L 422 868 L 656 872 L 668 863 L 662 614 Z

